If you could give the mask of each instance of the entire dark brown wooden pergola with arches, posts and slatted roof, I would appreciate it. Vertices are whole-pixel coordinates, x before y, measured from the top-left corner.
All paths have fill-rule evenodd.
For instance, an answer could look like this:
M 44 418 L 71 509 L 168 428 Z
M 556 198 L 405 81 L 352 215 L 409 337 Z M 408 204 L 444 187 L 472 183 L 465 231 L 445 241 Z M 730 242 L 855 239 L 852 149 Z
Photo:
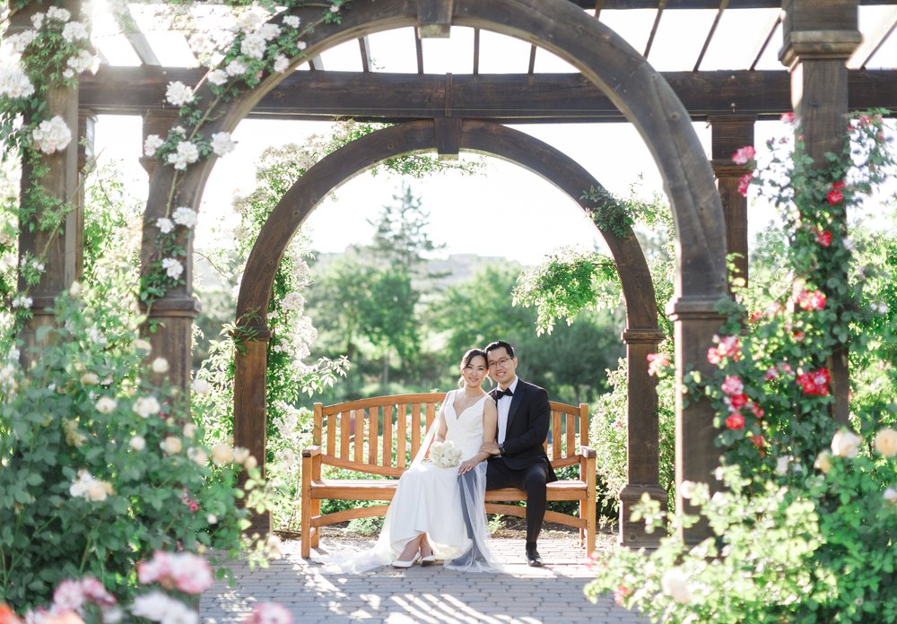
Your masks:
M 71 4 L 77 4 L 71 0 Z M 860 5 L 884 5 L 886 17 L 873 30 L 860 33 Z M 736 70 L 703 71 L 706 54 L 718 24 L 726 14 L 751 9 L 775 9 L 773 19 L 756 32 L 752 61 Z M 650 9 L 653 20 L 645 48 L 632 49 L 602 22 L 608 11 Z M 701 52 L 684 71 L 658 73 L 650 65 L 651 49 L 663 28 L 665 15 L 706 9 L 716 17 L 705 32 L 684 32 L 701 38 Z M 304 11 L 304 9 L 302 10 Z M 309 10 L 310 11 L 310 10 Z M 27 28 L 28 10 L 13 16 L 14 28 Z M 448 37 L 452 27 L 472 28 L 473 63 L 466 74 L 426 74 L 422 39 Z M 629 122 L 639 128 L 664 178 L 675 212 L 679 257 L 675 300 L 668 314 L 675 321 L 676 368 L 706 369 L 707 348 L 721 323 L 715 305 L 727 296 L 725 256 L 737 253 L 738 269 L 748 276 L 747 204 L 737 193 L 745 173 L 731 154 L 753 144 L 754 123 L 794 110 L 808 153 L 819 158 L 838 152 L 845 141 L 850 110 L 897 108 L 897 72 L 868 70 L 870 60 L 887 44 L 897 26 L 897 2 L 886 0 L 354 0 L 341 25 L 318 29 L 309 38 L 309 56 L 293 59 L 307 71 L 266 75 L 257 90 L 236 100 L 216 129 L 232 130 L 244 117 L 277 119 L 355 118 L 396 124 L 349 145 L 322 160 L 275 209 L 248 261 L 239 295 L 238 314 L 267 309 L 273 272 L 283 247 L 302 221 L 330 189 L 380 160 L 413 151 L 443 155 L 459 151 L 486 152 L 518 162 L 578 198 L 589 184 L 598 186 L 578 163 L 535 139 L 510 131 L 503 124 Z M 372 33 L 414 27 L 417 72 L 375 71 L 370 54 Z M 481 31 L 492 30 L 527 41 L 526 74 L 481 74 Z M 777 33 L 781 39 L 774 40 Z M 865 37 L 864 37 L 865 35 Z M 76 176 L 91 152 L 96 116 L 139 115 L 144 136 L 166 134 L 177 109 L 165 104 L 169 82 L 197 84 L 205 70 L 161 66 L 143 33 L 128 34 L 142 65 L 104 64 L 95 75 L 83 77 L 78 91 L 58 93 L 51 107 L 79 127 L 82 142 L 72 142 L 60 157 L 45 186 L 59 196 L 77 188 Z M 357 41 L 356 71 L 331 71 L 322 54 L 346 41 Z M 757 69 L 770 47 L 779 48 L 780 70 Z M 535 71 L 538 55 L 562 57 L 579 70 L 570 74 Z M 646 60 L 647 58 L 647 60 Z M 894 59 L 897 60 L 897 59 Z M 525 65 L 525 64 L 524 64 Z M 897 63 L 895 63 L 897 65 Z M 202 88 L 201 88 L 202 89 Z M 397 95 L 399 94 L 399 95 Z M 691 127 L 706 120 L 711 127 L 711 157 L 706 158 Z M 55 158 L 55 157 L 51 157 Z M 142 159 L 150 173 L 150 196 L 144 218 L 144 263 L 152 256 L 152 223 L 164 205 L 160 191 L 170 181 L 170 168 Z M 179 187 L 179 204 L 197 207 L 213 165 L 197 164 Z M 586 186 L 582 186 L 586 185 Z M 83 211 L 83 201 L 81 203 Z M 584 206 L 586 208 L 586 206 Z M 80 211 L 79 211 L 80 212 Z M 80 273 L 83 215 L 75 212 L 64 239 L 48 257 L 48 273 L 33 289 L 34 319 L 26 338 L 50 322 L 52 299 Z M 202 215 L 201 215 L 202 216 Z M 620 492 L 621 542 L 654 545 L 629 520 L 631 507 L 643 493 L 664 500 L 658 483 L 658 419 L 654 382 L 647 373 L 646 355 L 656 351 L 656 302 L 647 264 L 634 236 L 602 232 L 617 262 L 627 307 L 623 341 L 629 356 L 629 480 Z M 22 248 L 40 241 L 22 232 Z M 722 241 L 725 240 L 725 244 Z M 188 252 L 192 241 L 185 241 Z M 189 258 L 189 254 L 187 256 Z M 196 316 L 192 294 L 192 264 L 187 283 L 171 290 L 152 307 L 151 316 L 163 321 L 152 335 L 153 350 L 171 362 L 171 378 L 187 386 L 190 378 L 190 325 Z M 235 443 L 265 457 L 265 319 L 256 321 L 259 340 L 248 343 L 238 356 L 235 386 Z M 24 352 L 24 351 L 23 351 Z M 26 356 L 27 357 L 27 356 Z M 834 416 L 847 417 L 846 352 L 832 363 L 833 389 L 838 397 Z M 718 464 L 714 447 L 717 431 L 706 402 L 676 407 L 676 482 L 712 481 Z M 681 496 L 680 508 L 687 504 Z M 258 528 L 270 528 L 258 519 Z M 701 539 L 704 529 L 687 538 Z

